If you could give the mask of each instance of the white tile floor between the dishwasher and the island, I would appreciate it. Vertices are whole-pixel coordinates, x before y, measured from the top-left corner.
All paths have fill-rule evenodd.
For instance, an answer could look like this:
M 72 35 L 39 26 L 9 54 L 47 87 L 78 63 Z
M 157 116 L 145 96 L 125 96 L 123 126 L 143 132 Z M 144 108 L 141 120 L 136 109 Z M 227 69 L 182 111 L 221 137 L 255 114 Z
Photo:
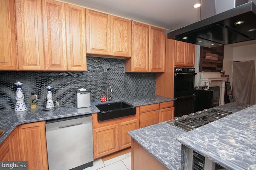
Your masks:
M 131 170 L 131 152 L 117 156 L 110 160 L 94 160 L 93 166 L 84 170 Z

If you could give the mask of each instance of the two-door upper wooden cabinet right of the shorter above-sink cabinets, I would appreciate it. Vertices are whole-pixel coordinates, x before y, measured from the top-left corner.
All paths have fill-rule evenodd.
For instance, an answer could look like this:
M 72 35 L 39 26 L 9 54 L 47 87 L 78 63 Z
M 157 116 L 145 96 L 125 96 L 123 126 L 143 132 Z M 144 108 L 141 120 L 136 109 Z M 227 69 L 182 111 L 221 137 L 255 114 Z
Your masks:
M 132 21 L 132 57 L 125 72 L 164 72 L 165 30 Z

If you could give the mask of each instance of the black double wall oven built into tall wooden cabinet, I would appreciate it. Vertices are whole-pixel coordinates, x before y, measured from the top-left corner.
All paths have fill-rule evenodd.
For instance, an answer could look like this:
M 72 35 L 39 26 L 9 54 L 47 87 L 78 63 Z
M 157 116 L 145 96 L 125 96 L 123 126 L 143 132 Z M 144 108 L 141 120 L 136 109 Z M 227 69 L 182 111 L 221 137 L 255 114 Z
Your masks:
M 174 68 L 174 117 L 194 112 L 195 68 Z

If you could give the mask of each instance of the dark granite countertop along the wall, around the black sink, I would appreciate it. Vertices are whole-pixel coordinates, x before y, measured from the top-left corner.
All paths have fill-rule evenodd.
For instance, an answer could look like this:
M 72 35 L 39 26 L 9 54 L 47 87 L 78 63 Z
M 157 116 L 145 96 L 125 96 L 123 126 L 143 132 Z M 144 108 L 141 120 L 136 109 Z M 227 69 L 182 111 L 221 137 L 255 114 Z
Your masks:
M 123 98 L 116 99 L 110 102 L 123 101 L 131 104 L 132 106 L 143 106 L 148 104 L 155 104 L 161 102 L 173 101 L 172 98 L 166 98 L 163 96 L 143 96 L 143 97 L 133 97 L 133 98 Z M 43 111 L 45 107 L 38 107 L 37 109 L 31 110 L 27 109 L 26 111 L 15 112 L 14 109 L 0 111 L 0 129 L 4 130 L 4 135 L 0 137 L 0 145 L 2 142 L 10 135 L 10 133 L 18 125 L 24 123 L 31 123 L 36 121 L 46 121 L 51 119 L 60 119 L 65 117 L 73 117 L 79 115 L 86 115 L 91 113 L 97 113 L 100 110 L 95 106 L 102 104 L 103 102 L 92 103 L 91 107 L 76 108 L 76 106 L 64 105 L 62 107 L 57 107 L 55 110 Z

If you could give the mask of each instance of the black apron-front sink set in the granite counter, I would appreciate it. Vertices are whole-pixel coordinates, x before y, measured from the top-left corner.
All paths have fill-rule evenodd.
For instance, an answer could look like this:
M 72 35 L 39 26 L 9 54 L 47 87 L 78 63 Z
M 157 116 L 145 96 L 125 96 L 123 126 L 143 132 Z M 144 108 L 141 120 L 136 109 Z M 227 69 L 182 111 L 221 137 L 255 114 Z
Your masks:
M 97 113 L 98 121 L 106 121 L 136 114 L 136 107 L 125 102 L 106 103 L 95 106 L 100 109 L 100 112 Z

